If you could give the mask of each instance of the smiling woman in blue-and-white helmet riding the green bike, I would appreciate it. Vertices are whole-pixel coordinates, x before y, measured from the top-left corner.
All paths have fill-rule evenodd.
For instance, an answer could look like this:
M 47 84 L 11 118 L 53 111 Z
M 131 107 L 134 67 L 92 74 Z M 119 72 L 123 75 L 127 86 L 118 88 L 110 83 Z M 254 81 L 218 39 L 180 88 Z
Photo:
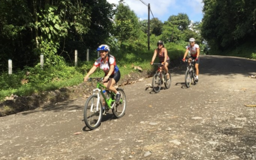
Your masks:
M 109 46 L 101 45 L 98 47 L 97 51 L 99 51 L 100 57 L 93 64 L 93 67 L 90 69 L 88 74 L 84 77 L 84 81 L 87 81 L 89 76 L 93 74 L 93 72 L 99 67 L 103 69 L 105 72 L 103 85 L 107 87 L 109 91 L 113 91 L 116 94 L 116 102 L 119 102 L 121 94 L 113 87 L 121 77 L 120 71 L 116 66 L 115 57 L 109 54 Z

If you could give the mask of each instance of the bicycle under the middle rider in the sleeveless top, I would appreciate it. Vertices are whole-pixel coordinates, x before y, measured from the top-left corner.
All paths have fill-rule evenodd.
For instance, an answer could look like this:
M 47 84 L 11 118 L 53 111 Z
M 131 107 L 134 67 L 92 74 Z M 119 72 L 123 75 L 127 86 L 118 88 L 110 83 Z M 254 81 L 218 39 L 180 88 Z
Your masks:
M 156 74 L 154 74 L 153 80 L 152 80 L 152 88 L 154 92 L 158 93 L 160 91 L 162 83 L 164 83 L 164 86 L 166 87 L 166 89 L 169 89 L 172 81 L 170 71 L 168 71 L 169 79 L 167 80 L 165 71 L 163 71 L 163 69 L 162 71 L 160 71 L 160 67 L 162 66 L 162 63 L 153 63 L 153 64 L 158 66 Z

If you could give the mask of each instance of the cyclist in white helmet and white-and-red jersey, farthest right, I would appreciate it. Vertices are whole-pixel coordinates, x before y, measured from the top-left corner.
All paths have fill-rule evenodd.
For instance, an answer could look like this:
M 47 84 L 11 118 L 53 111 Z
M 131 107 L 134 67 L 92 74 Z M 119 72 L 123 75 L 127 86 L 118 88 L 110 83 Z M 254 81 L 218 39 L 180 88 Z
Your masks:
M 195 82 L 198 82 L 198 75 L 199 75 L 199 54 L 200 54 L 200 48 L 198 44 L 195 44 L 195 38 L 190 38 L 189 39 L 190 45 L 187 46 L 186 52 L 183 57 L 183 62 L 185 62 L 185 58 L 190 51 L 190 57 L 189 60 L 195 60 L 195 69 L 196 69 L 196 77 L 195 77 Z M 190 61 L 188 61 L 190 63 Z

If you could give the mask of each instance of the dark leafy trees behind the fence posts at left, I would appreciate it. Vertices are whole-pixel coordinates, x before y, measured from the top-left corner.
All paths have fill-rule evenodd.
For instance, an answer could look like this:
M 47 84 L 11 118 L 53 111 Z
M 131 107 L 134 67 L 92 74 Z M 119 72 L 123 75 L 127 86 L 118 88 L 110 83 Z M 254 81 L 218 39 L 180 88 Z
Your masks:
M 74 49 L 96 48 L 112 33 L 113 4 L 106 0 L 0 0 L 0 67 L 46 65 Z

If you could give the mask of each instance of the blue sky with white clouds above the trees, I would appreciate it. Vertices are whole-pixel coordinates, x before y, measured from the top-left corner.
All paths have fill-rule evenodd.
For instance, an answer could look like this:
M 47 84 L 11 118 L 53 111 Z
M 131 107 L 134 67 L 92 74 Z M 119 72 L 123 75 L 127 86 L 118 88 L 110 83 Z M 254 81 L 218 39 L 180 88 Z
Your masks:
M 109 3 L 118 4 L 119 0 L 107 0 Z M 186 13 L 192 21 L 201 21 L 203 18 L 202 0 L 142 0 L 146 4 L 150 3 L 154 17 L 162 22 L 168 20 L 171 15 Z M 148 19 L 148 7 L 140 0 L 125 0 L 126 5 L 137 14 L 141 20 Z M 153 18 L 150 13 L 150 19 Z

